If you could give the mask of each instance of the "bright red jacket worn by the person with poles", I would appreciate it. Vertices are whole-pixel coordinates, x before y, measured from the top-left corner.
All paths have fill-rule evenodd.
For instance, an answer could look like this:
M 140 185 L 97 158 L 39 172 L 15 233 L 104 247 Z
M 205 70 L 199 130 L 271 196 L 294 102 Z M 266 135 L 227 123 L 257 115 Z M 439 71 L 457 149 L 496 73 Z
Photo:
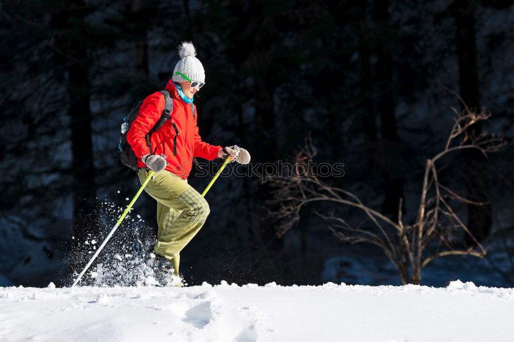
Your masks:
M 182 101 L 172 80 L 168 82 L 165 89 L 173 98 L 172 119 L 167 120 L 158 131 L 153 132 L 150 136 L 152 151 L 146 145 L 144 137 L 162 115 L 166 101 L 160 92 L 155 92 L 144 99 L 137 118 L 127 132 L 127 141 L 138 157 L 138 167 L 145 167 L 141 157 L 154 153 L 155 149 L 156 155 L 164 154 L 166 156 L 168 171 L 186 179 L 192 168 L 193 157 L 213 160 L 217 158 L 218 150 L 222 147 L 201 141 L 196 125 L 198 115 L 196 106 L 194 106 L 193 112 L 192 103 L 187 104 Z M 173 123 L 178 131 L 176 155 L 173 155 L 173 140 L 176 135 Z

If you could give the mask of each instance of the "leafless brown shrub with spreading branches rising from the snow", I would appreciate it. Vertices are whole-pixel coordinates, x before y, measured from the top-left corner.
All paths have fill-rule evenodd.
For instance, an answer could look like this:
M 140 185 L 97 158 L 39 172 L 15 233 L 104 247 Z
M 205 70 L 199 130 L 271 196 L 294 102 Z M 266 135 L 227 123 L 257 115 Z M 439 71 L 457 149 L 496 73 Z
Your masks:
M 436 163 L 458 150 L 478 149 L 484 156 L 497 151 L 505 145 L 503 138 L 480 134 L 468 134 L 470 127 L 490 118 L 489 113 L 472 112 L 467 106 L 459 115 L 450 131 L 446 145 L 440 153 L 427 159 L 425 174 L 421 186 L 420 201 L 414 222 L 402 221 L 402 199 L 399 203 L 398 221 L 382 215 L 366 206 L 359 198 L 343 188 L 324 182 L 313 170 L 309 169 L 309 160 L 317 155 L 310 135 L 305 139 L 305 146 L 295 157 L 296 172 L 291 175 L 270 175 L 268 180 L 273 188 L 273 199 L 266 207 L 269 217 L 276 222 L 278 236 L 283 236 L 299 220 L 302 208 L 313 202 L 329 201 L 349 205 L 362 211 L 363 220 L 357 226 L 351 225 L 336 210 L 316 214 L 329 222 L 328 229 L 335 236 L 352 244 L 365 242 L 379 246 L 395 265 L 403 284 L 421 282 L 421 270 L 431 261 L 447 255 L 473 255 L 484 257 L 486 249 L 477 241 L 468 227 L 450 206 L 452 200 L 461 203 L 484 205 L 471 202 L 441 184 L 437 177 Z M 457 248 L 454 240 L 457 233 L 464 231 L 476 243 L 467 249 Z

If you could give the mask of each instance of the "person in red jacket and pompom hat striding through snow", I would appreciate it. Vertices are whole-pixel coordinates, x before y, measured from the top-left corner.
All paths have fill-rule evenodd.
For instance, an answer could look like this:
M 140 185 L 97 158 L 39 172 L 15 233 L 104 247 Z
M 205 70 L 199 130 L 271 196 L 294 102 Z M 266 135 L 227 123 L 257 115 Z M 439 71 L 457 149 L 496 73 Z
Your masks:
M 143 101 L 126 135 L 138 158 L 141 184 L 150 170 L 155 172 L 144 188 L 157 201 L 154 262 L 159 269 L 175 276 L 178 276 L 180 251 L 198 233 L 210 212 L 205 198 L 187 181 L 193 157 L 213 160 L 230 156 L 234 160 L 238 156 L 238 151 L 230 147 L 222 148 L 201 140 L 193 97 L 205 85 L 204 67 L 196 58 L 192 43 L 182 42 L 178 50 L 180 60 L 165 88 L 173 98 L 171 119 L 146 141 L 146 135 L 161 117 L 166 102 L 161 92 L 155 92 Z

